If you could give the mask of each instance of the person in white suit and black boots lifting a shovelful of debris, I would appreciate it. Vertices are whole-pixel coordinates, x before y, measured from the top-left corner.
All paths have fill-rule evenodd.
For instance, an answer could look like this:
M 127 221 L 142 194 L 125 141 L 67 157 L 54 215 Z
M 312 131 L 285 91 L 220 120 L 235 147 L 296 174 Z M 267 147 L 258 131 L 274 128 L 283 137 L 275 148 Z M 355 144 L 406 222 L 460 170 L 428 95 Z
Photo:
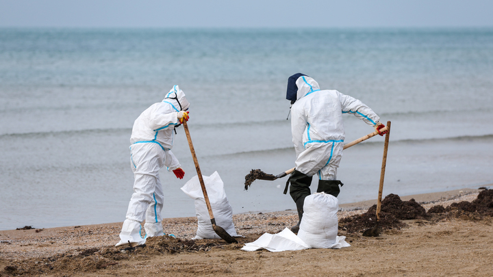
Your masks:
M 312 176 L 318 175 L 317 192 L 337 197 L 339 185 L 343 185 L 337 180 L 345 137 L 342 114 L 353 114 L 375 127 L 380 135 L 386 132 L 380 131 L 385 125 L 379 122 L 379 116 L 362 101 L 337 90 L 320 90 L 314 79 L 302 73 L 289 77 L 286 98 L 292 104 L 291 131 L 296 150 L 296 170 L 288 183 L 299 216 L 291 230 L 297 233 L 305 197 L 311 194 Z

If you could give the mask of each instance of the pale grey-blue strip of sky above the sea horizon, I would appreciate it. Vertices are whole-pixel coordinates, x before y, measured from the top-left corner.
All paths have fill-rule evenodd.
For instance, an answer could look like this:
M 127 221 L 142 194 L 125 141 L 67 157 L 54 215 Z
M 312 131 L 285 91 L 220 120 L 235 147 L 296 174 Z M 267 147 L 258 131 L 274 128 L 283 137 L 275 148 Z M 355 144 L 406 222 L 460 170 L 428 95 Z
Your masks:
M 489 0 L 0 0 L 0 27 L 493 27 Z

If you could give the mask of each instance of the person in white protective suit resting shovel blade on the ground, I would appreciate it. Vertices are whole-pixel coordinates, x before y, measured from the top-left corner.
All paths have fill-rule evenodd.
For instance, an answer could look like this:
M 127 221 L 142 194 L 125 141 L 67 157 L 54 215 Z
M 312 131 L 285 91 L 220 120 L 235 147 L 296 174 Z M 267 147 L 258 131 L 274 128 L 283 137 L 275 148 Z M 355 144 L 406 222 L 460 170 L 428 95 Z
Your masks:
M 120 241 L 116 246 L 138 246 L 147 237 L 164 235 L 161 211 L 164 193 L 159 170 L 166 166 L 179 179 L 184 170 L 171 152 L 175 127 L 188 121 L 188 103 L 185 94 L 175 85 L 164 100 L 147 108 L 135 120 L 130 138 L 130 166 L 134 172 L 132 194 L 127 218 L 123 222 Z M 145 237 L 140 235 L 141 222 L 145 220 Z

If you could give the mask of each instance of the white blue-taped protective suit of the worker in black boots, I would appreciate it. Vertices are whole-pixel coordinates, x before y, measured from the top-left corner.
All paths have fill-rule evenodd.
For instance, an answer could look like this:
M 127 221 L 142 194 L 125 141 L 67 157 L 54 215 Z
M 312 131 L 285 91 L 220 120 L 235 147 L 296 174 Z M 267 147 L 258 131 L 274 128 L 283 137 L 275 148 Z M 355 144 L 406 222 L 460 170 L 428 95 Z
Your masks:
M 291 131 L 296 150 L 296 170 L 319 180 L 336 180 L 344 148 L 342 114 L 353 114 L 370 126 L 379 122 L 362 101 L 337 90 L 320 90 L 318 83 L 301 76 L 292 105 Z

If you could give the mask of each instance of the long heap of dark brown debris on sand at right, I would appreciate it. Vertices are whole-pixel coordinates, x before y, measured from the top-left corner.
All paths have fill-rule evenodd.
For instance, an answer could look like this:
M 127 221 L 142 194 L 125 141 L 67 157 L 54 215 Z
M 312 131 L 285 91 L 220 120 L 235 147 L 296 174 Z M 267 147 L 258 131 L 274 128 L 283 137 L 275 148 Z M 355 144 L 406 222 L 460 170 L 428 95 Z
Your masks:
M 377 205 L 373 205 L 361 215 L 342 218 L 339 229 L 347 233 L 364 232 L 377 224 Z M 389 194 L 381 202 L 379 228 L 382 230 L 400 229 L 406 224 L 402 220 L 427 220 L 438 222 L 446 218 L 481 220 L 493 217 L 493 189 L 485 189 L 472 202 L 462 201 L 444 208 L 442 205 L 431 207 L 428 212 L 416 200 L 403 201 L 396 194 Z

